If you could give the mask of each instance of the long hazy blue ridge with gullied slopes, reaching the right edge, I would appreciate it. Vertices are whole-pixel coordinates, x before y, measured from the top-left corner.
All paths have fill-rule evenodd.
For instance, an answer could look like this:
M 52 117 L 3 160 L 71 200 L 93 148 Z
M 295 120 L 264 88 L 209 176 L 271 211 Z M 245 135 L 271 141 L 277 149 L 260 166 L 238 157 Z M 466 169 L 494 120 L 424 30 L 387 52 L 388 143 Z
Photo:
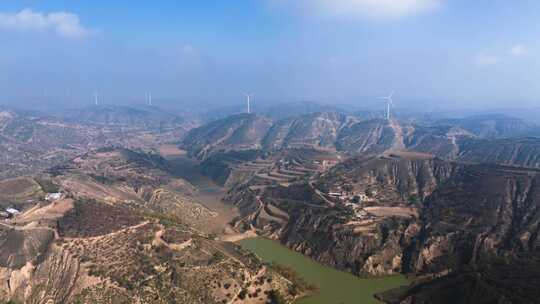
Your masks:
M 352 154 L 391 150 L 429 153 L 450 160 L 540 167 L 536 125 L 501 115 L 441 120 L 428 125 L 362 120 L 317 112 L 273 121 L 239 114 L 188 132 L 181 145 L 205 159 L 230 150 L 314 148 Z

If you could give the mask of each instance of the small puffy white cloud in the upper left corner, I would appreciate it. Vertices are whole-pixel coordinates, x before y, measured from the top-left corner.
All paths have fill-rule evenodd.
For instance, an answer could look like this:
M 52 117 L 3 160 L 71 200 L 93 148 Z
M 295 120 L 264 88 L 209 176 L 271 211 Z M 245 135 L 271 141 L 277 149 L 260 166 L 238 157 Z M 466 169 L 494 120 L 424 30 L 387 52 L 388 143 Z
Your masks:
M 65 38 L 82 38 L 92 34 L 83 27 L 79 16 L 69 12 L 41 13 L 24 9 L 18 13 L 0 13 L 0 30 L 22 32 L 52 31 Z

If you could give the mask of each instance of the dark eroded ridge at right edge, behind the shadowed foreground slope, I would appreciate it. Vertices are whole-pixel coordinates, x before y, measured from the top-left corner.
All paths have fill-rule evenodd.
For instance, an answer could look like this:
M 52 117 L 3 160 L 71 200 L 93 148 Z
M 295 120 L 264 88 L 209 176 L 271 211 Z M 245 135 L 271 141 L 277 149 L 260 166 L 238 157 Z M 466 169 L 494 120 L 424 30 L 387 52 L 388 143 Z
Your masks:
M 538 252 L 536 171 L 467 166 L 424 203 L 411 271 L 456 270 L 488 255 Z

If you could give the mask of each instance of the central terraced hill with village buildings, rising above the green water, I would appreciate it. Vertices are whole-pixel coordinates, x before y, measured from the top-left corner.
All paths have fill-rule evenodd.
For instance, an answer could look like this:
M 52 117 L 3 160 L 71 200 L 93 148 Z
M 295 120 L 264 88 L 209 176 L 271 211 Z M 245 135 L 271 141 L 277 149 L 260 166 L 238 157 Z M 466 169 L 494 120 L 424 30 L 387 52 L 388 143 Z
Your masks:
M 262 233 L 320 262 L 391 274 L 402 271 L 404 248 L 419 232 L 420 202 L 455 170 L 435 159 L 352 159 L 313 185 L 240 187 L 228 199 Z

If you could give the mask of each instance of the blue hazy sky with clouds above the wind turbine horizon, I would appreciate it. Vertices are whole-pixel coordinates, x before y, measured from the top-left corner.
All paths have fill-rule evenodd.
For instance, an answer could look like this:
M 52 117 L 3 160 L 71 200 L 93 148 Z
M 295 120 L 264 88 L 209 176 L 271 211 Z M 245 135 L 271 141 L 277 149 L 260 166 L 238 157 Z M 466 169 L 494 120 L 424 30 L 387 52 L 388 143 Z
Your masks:
M 2 0 L 0 104 L 528 107 L 537 0 Z

